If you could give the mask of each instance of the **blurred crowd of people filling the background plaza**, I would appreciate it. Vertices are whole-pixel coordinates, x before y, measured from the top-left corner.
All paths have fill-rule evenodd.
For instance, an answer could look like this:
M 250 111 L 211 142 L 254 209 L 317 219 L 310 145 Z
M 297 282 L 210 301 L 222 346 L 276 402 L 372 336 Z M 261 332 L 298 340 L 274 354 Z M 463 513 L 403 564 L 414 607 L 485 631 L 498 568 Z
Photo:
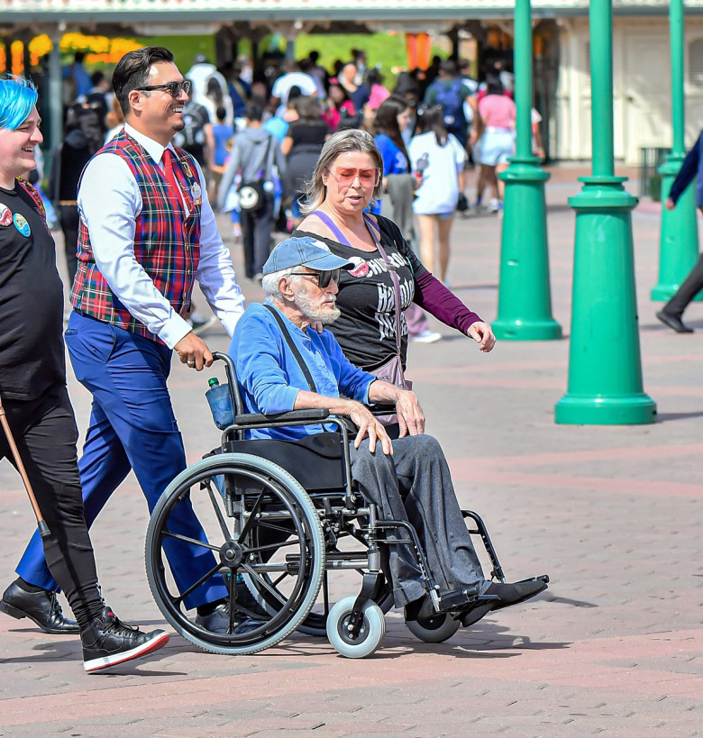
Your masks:
M 77 54 L 64 69 L 65 102 L 76 96 L 66 107 L 66 138 L 49 187 L 65 236 L 69 278 L 78 223 L 70 193 L 87 158 L 123 126 L 107 78 L 88 75 L 82 62 Z M 515 153 L 516 105 L 513 75 L 499 61 L 477 79 L 469 60 L 435 57 L 426 70 L 401 71 L 392 88 L 380 68 L 368 66 L 363 50 L 352 50 L 331 69 L 311 51 L 305 59 L 285 59 L 256 73 L 245 57 L 216 68 L 198 54 L 185 76 L 191 83 L 186 125 L 174 144 L 196 158 L 210 199 L 231 214 L 231 238 L 242 245 L 247 278 L 260 280 L 273 232 L 292 232 L 301 222 L 306 183 L 324 141 L 337 131 L 360 129 L 375 137 L 383 155 L 384 194 L 370 212 L 394 218 L 445 284 L 455 214 L 502 211 L 498 175 Z M 533 149 L 543 157 L 540 121 L 534 110 Z M 472 202 L 470 169 L 477 172 Z M 407 317 L 414 340 L 439 340 L 422 311 Z

